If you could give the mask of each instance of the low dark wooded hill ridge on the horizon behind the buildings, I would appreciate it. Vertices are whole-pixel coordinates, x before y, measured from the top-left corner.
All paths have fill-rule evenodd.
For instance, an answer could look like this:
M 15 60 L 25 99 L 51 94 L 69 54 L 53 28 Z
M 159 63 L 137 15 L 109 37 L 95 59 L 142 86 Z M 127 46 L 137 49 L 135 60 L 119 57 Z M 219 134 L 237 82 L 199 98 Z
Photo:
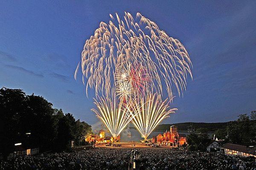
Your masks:
M 169 130 L 170 126 L 175 125 L 178 127 L 178 131 L 187 131 L 188 126 L 192 125 L 195 130 L 198 128 L 206 128 L 208 132 L 214 132 L 215 130 L 227 127 L 228 122 L 218 122 L 218 123 L 203 123 L 203 122 L 184 122 L 184 123 L 174 123 L 174 124 L 161 124 L 157 125 L 154 131 L 165 131 Z M 135 128 L 131 127 L 130 128 Z

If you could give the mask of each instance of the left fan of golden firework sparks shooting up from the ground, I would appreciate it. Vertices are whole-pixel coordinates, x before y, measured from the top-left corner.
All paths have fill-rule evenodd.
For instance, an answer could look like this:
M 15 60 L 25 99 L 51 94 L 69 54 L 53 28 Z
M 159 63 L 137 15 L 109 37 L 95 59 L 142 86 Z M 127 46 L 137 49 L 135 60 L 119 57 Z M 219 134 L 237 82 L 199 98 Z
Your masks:
M 113 138 L 116 139 L 128 123 L 131 122 L 131 119 L 134 118 L 134 114 L 129 111 L 127 105 L 123 105 L 122 100 L 117 102 L 114 95 L 111 98 L 97 96 L 97 100 L 94 100 L 98 110 L 91 110 L 104 122 Z

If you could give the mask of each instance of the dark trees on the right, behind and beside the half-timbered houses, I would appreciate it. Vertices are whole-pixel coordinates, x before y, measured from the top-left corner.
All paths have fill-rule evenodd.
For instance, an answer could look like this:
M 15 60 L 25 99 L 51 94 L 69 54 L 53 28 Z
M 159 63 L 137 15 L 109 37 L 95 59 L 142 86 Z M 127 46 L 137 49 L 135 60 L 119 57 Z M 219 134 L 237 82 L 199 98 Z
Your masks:
M 207 128 L 198 128 L 195 133 L 187 136 L 189 150 L 206 150 L 204 145 L 209 137 Z M 227 122 L 226 126 L 215 130 L 215 137 L 220 144 L 233 143 L 242 145 L 256 144 L 256 111 L 251 111 L 250 116 L 240 114 L 236 121 Z

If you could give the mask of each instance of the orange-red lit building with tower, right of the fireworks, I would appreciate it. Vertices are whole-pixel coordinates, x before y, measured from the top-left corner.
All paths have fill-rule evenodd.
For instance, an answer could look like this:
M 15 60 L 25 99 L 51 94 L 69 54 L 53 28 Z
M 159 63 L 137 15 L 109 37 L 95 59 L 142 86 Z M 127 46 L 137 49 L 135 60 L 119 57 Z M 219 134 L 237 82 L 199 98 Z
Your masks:
M 158 143 L 163 146 L 179 147 L 186 143 L 186 135 L 179 134 L 175 125 L 170 127 L 170 130 L 162 134 L 158 134 L 152 138 L 153 143 Z

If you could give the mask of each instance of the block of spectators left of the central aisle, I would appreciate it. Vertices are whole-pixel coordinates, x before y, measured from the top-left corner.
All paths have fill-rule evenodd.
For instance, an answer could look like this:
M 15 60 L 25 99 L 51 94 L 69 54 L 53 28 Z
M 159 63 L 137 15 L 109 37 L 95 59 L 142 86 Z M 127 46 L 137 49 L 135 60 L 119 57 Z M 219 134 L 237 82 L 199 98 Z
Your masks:
M 131 149 L 94 148 L 71 153 L 19 156 L 0 161 L 0 170 L 127 170 Z

